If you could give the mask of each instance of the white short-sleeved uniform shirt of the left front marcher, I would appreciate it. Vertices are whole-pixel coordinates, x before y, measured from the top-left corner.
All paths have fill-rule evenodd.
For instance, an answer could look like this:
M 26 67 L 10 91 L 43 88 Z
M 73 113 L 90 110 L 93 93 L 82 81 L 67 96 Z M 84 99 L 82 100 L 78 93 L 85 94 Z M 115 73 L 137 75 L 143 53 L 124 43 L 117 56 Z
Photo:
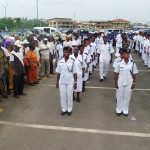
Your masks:
M 65 59 L 62 58 L 57 64 L 56 72 L 60 73 L 60 84 L 72 84 L 74 79 L 73 74 L 77 73 L 75 60 L 69 58 L 65 62 Z

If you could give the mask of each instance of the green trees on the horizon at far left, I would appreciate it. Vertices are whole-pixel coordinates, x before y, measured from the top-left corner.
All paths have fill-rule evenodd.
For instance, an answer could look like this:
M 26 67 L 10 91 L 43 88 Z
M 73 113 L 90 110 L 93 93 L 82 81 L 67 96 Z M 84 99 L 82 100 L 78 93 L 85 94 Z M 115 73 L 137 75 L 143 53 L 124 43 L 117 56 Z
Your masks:
M 39 21 L 37 23 L 36 19 L 27 18 L 1 18 L 0 19 L 0 31 L 18 31 L 21 29 L 31 30 L 38 26 L 48 26 L 47 21 Z

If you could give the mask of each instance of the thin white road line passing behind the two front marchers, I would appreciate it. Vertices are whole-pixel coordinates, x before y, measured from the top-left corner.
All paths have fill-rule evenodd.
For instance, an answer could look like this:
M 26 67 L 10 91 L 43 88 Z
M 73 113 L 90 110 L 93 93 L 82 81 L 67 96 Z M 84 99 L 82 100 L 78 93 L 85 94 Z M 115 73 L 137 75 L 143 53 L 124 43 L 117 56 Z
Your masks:
M 56 85 L 47 85 L 47 84 L 39 84 L 39 86 L 43 86 L 43 87 L 56 87 Z M 113 88 L 113 87 L 86 86 L 86 88 L 87 89 L 116 90 L 116 88 Z M 150 91 L 150 89 L 135 88 L 133 91 Z

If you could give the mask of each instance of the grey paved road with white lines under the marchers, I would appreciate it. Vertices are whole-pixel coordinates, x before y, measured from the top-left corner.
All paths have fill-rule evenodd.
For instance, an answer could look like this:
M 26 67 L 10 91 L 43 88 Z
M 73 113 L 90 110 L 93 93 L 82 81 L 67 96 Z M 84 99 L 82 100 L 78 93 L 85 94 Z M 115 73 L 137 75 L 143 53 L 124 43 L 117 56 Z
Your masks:
M 140 73 L 128 118 L 115 116 L 112 69 L 104 83 L 95 70 L 71 117 L 60 116 L 51 76 L 27 86 L 26 97 L 0 104 L 0 150 L 150 150 L 150 70 L 133 57 Z

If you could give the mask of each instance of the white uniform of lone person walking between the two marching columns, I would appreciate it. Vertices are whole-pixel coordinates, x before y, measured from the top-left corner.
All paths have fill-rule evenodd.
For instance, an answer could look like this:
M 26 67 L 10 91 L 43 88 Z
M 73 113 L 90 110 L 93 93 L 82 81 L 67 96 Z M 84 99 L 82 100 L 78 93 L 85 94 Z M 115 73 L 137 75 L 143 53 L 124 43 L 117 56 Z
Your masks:
M 100 54 L 100 57 L 99 57 L 100 78 L 104 79 L 104 77 L 106 77 L 108 73 L 110 60 L 111 60 L 111 54 L 114 53 L 114 49 L 112 45 L 107 42 L 107 44 L 102 44 L 99 47 L 97 53 Z

